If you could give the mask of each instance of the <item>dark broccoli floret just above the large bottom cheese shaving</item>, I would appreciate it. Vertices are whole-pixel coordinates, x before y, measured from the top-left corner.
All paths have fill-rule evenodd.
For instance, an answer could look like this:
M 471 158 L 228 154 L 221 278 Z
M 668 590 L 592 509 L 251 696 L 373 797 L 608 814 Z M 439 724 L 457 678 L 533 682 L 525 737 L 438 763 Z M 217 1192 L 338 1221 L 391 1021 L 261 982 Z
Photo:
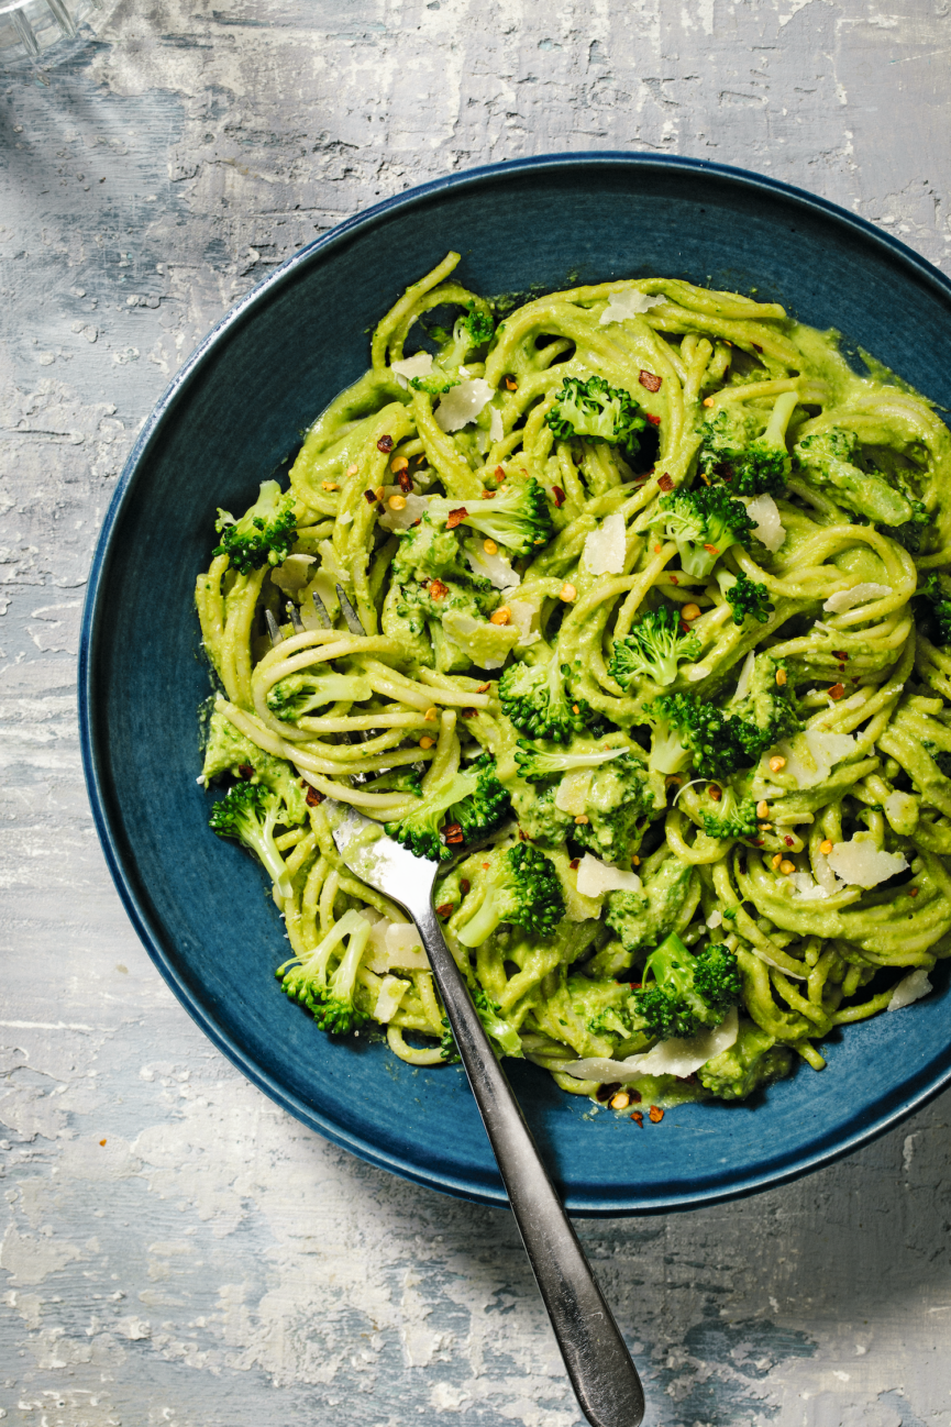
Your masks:
M 741 996 L 734 952 L 711 943 L 694 955 L 674 932 L 648 956 L 643 989 L 633 993 L 637 1022 L 661 1040 L 718 1026 Z

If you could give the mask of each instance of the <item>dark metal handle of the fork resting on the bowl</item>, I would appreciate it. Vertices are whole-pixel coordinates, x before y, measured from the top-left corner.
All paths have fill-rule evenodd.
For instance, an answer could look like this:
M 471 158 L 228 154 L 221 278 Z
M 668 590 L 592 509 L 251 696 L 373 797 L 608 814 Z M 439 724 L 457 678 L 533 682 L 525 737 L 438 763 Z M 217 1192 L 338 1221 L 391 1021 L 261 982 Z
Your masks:
M 644 1388 L 431 905 L 416 920 L 571 1386 L 591 1427 L 640 1427 Z

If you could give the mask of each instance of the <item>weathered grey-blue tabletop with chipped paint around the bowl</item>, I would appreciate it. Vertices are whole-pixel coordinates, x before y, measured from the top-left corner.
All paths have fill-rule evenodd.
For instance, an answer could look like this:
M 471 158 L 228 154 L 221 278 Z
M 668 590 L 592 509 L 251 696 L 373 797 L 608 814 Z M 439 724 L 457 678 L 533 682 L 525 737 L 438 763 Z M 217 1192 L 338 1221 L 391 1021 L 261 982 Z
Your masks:
M 123 0 L 0 78 L 0 1418 L 574 1427 L 511 1220 L 323 1143 L 151 969 L 81 785 L 96 531 L 168 375 L 267 270 L 447 170 L 641 148 L 948 267 L 944 0 Z M 945 1097 L 744 1203 L 581 1223 L 651 1421 L 951 1421 Z

